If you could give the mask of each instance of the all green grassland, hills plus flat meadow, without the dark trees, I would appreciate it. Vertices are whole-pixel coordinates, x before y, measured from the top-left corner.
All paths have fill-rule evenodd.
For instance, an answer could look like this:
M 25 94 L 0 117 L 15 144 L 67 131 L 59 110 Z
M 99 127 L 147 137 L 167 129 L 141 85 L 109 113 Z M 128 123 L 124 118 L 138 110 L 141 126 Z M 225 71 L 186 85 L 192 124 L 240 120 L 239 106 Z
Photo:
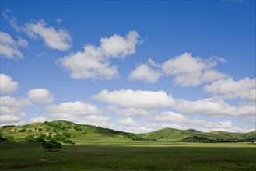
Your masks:
M 26 129 L 26 131 L 24 131 Z M 256 170 L 256 132 L 247 134 L 165 128 L 132 134 L 66 121 L 1 127 L 0 170 Z M 48 152 L 26 137 L 65 137 L 58 152 Z M 249 139 L 250 138 L 250 139 Z M 222 139 L 232 143 L 201 143 Z M 47 140 L 47 139 L 46 139 Z M 184 142 L 197 141 L 197 142 Z

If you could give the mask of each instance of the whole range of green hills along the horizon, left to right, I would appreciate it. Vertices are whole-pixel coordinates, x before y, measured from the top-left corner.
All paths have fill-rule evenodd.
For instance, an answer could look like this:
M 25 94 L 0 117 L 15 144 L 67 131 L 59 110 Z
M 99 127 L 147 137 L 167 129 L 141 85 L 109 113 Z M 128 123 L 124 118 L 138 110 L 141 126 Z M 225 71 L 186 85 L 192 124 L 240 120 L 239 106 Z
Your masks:
M 133 134 L 92 125 L 75 124 L 65 120 L 33 123 L 23 126 L 4 126 L 0 128 L 0 133 L 2 138 L 8 141 L 40 141 L 40 138 L 54 138 L 69 144 L 96 143 L 97 141 L 228 142 L 256 140 L 256 131 L 246 134 L 226 131 L 205 133 L 193 129 L 177 130 L 164 128 L 146 134 Z

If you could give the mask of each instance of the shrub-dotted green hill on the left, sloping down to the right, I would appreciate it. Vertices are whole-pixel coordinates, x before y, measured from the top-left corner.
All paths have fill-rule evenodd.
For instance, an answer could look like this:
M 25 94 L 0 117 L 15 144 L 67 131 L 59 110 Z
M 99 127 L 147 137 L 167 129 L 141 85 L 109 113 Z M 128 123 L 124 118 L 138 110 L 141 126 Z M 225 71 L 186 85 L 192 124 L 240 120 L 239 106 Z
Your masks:
M 27 141 L 40 136 L 55 138 L 69 144 L 84 144 L 85 142 L 133 141 L 142 140 L 139 134 L 114 131 L 103 127 L 75 124 L 58 120 L 44 123 L 26 124 L 23 126 L 1 127 L 2 137 L 9 141 Z M 33 138 L 31 141 L 33 141 Z

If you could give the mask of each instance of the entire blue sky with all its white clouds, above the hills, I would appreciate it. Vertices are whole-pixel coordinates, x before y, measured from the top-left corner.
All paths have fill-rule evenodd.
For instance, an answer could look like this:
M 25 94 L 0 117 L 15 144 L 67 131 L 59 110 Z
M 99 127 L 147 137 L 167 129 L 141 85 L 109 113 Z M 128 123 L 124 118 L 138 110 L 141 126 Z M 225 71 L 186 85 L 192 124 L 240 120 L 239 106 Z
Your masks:
M 255 130 L 255 1 L 1 1 L 0 124 Z

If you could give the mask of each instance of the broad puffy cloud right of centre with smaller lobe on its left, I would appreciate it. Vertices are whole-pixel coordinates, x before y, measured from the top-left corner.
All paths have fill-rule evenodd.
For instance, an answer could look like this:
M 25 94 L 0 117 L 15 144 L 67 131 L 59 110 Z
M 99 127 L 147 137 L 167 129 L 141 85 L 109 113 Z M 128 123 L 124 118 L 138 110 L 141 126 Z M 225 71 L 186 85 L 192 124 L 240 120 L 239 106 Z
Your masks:
M 129 75 L 129 79 L 155 83 L 161 77 L 171 75 L 174 76 L 174 82 L 177 85 L 183 87 L 198 86 L 202 83 L 213 82 L 228 76 L 213 69 L 218 61 L 226 62 L 223 58 L 202 59 L 193 57 L 191 53 L 184 53 L 175 58 L 170 58 L 161 65 L 149 59 L 148 64 L 137 66 Z

